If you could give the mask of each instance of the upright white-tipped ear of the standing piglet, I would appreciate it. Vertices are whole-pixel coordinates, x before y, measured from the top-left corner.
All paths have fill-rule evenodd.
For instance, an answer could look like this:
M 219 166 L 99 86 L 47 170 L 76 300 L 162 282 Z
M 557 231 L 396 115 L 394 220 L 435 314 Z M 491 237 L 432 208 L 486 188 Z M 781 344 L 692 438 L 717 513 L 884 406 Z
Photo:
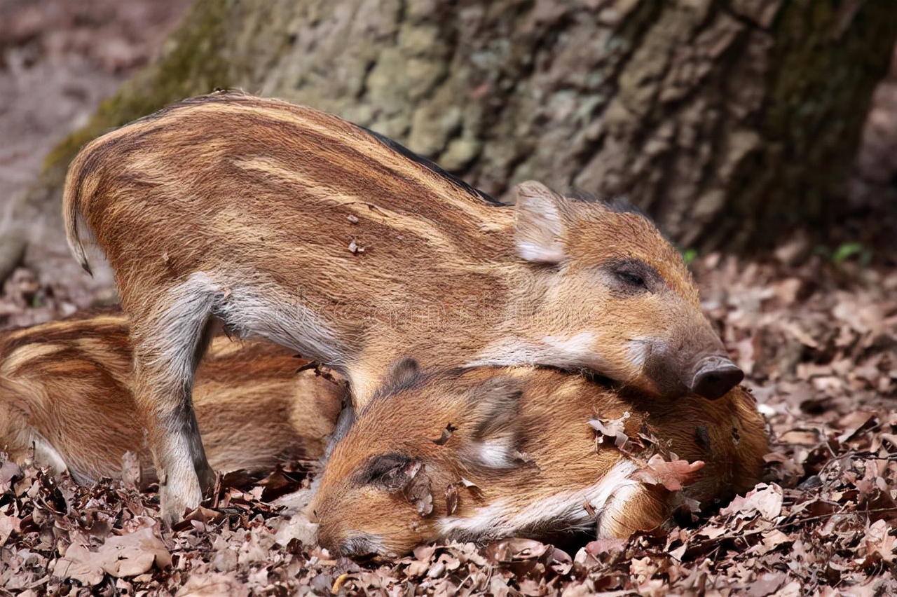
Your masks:
M 520 258 L 536 264 L 562 261 L 567 232 L 560 209 L 562 200 L 561 195 L 535 180 L 517 186 L 514 245 Z

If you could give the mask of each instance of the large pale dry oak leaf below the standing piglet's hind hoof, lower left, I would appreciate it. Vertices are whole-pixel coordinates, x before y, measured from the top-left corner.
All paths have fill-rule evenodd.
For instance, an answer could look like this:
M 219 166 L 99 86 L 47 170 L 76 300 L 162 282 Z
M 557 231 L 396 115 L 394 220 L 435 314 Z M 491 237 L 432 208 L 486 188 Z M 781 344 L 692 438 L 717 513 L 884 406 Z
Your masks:
M 168 567 L 171 555 L 156 536 L 154 525 L 110 537 L 96 551 L 73 543 L 53 567 L 53 575 L 74 578 L 83 584 L 99 584 L 104 574 L 124 578 L 142 575 L 153 566 Z

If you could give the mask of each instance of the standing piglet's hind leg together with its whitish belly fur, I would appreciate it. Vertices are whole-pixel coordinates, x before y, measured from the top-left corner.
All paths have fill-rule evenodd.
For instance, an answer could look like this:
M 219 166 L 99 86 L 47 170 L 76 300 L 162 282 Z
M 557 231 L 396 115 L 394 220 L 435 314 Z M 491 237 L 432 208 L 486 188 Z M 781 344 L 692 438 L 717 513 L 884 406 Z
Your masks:
M 164 520 L 177 521 L 185 508 L 198 506 L 214 482 L 190 397 L 210 317 L 239 336 L 261 336 L 344 372 L 346 350 L 327 325 L 276 285 L 262 285 L 266 291 L 232 288 L 196 272 L 161 300 L 122 297 L 132 324 L 135 402 L 145 416 Z

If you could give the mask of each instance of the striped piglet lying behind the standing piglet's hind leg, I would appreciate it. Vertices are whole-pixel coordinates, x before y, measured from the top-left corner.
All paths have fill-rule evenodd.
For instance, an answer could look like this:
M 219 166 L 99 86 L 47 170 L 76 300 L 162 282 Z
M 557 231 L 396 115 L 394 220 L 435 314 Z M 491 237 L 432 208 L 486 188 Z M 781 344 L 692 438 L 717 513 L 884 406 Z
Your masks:
M 0 334 L 0 452 L 80 483 L 119 478 L 131 452 L 144 483 L 156 480 L 131 393 L 127 334 L 121 315 Z M 297 374 L 302 364 L 268 342 L 213 340 L 193 401 L 216 470 L 263 472 L 324 454 L 348 392 L 313 370 Z

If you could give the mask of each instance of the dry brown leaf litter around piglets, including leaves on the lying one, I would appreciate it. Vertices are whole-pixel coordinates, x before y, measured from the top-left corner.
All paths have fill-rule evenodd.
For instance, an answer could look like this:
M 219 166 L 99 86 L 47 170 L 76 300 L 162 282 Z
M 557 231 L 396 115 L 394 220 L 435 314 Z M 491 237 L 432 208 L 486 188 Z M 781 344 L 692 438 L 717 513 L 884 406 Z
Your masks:
M 849 266 L 692 264 L 771 430 L 763 482 L 696 522 L 628 541 L 449 543 L 353 562 L 315 544 L 302 514 L 313 474 L 299 468 L 228 475 L 215 507 L 171 530 L 133 482 L 83 488 L 0 460 L 0 595 L 897 593 L 897 273 Z M 32 286 L 6 287 L 19 320 L 54 307 L 15 296 Z M 664 453 L 653 429 L 589 423 L 603 449 L 643 456 L 645 482 L 675 491 L 700 466 Z M 426 510 L 422 475 L 410 490 Z M 459 489 L 488 491 L 467 483 L 439 498 L 451 509 Z

